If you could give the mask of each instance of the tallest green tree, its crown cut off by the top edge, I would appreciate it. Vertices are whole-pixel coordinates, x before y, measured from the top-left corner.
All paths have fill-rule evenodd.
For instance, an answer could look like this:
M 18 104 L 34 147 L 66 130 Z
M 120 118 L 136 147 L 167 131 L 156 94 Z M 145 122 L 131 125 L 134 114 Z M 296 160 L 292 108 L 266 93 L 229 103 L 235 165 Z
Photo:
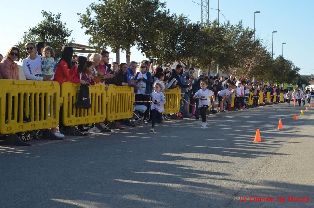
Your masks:
M 160 14 L 167 13 L 165 3 L 159 0 L 99 0 L 91 3 L 86 13 L 78 13 L 85 34 L 90 35 L 89 45 L 103 50 L 109 46 L 116 52 L 126 52 L 130 63 L 130 49 L 139 42 L 154 42 L 153 35 L 146 36 L 157 25 Z M 159 23 L 160 24 L 160 23 Z

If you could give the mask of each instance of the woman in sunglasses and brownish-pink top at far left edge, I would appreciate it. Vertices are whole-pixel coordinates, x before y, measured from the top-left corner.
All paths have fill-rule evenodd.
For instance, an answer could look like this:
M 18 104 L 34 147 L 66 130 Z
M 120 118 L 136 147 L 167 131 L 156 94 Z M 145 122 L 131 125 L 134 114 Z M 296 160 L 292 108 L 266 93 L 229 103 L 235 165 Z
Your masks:
M 19 79 L 19 67 L 15 61 L 20 57 L 19 48 L 11 47 L 0 63 L 0 79 Z

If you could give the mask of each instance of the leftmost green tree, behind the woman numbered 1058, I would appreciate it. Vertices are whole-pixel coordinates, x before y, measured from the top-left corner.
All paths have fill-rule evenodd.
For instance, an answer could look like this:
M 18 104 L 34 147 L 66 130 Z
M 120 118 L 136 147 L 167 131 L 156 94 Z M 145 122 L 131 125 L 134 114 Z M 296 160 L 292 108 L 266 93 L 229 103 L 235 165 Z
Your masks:
M 30 28 L 28 31 L 24 32 L 21 41 L 17 43 L 21 51 L 21 58 L 24 59 L 28 56 L 24 49 L 25 43 L 31 42 L 46 42 L 47 46 L 53 48 L 55 52 L 55 58 L 61 57 L 62 46 L 65 43 L 73 43 L 74 39 L 70 39 L 72 30 L 68 30 L 66 23 L 63 23 L 61 19 L 61 13 L 52 14 L 52 12 L 46 12 L 41 10 L 41 14 L 44 20 L 41 21 L 37 26 Z

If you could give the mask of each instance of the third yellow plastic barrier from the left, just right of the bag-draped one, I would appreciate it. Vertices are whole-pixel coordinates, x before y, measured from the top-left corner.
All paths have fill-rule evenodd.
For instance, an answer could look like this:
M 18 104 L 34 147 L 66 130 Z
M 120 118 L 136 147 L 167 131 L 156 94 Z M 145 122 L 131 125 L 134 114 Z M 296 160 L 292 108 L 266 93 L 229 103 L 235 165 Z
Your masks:
M 108 121 L 132 118 L 134 88 L 129 86 L 110 85 L 107 90 L 108 104 L 106 117 Z

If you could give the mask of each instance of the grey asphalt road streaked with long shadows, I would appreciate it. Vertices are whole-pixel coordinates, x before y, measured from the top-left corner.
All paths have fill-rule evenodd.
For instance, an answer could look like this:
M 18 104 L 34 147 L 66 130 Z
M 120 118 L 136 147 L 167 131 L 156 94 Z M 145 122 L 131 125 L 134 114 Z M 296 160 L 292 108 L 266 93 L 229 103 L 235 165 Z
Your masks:
M 0 207 L 314 207 L 314 107 L 304 116 L 301 109 L 216 114 L 206 129 L 185 119 L 157 124 L 154 134 L 144 126 L 1 146 Z M 260 143 L 253 142 L 257 128 Z

